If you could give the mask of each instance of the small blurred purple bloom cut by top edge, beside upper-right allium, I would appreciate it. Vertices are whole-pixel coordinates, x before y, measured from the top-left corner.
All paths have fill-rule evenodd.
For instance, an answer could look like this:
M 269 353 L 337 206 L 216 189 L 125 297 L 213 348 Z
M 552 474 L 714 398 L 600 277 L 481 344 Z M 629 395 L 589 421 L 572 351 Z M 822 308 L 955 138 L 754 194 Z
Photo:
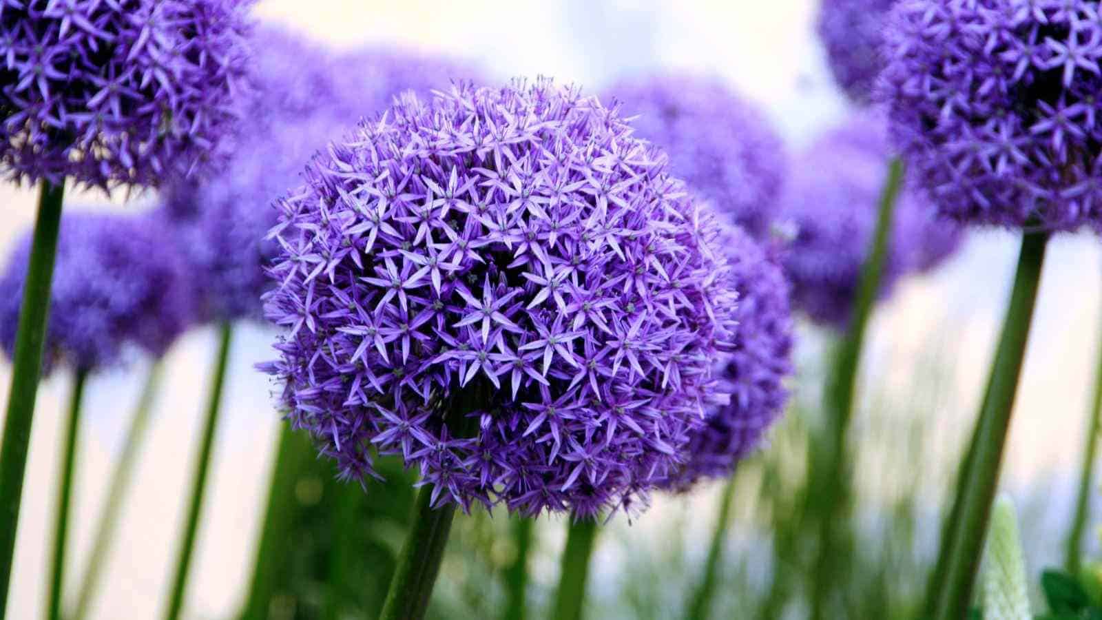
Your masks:
M 839 86 L 867 103 L 884 68 L 884 25 L 895 0 L 822 0 L 819 39 Z

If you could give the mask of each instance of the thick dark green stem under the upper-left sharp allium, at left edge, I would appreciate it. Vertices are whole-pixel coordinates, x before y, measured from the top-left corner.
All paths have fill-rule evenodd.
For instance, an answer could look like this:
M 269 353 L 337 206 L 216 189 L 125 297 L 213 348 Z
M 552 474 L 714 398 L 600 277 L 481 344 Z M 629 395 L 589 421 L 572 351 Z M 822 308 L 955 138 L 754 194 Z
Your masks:
M 3 442 L 0 445 L 0 620 L 3 620 L 8 607 L 19 504 L 23 494 L 23 471 L 26 469 L 26 445 L 31 438 L 34 398 L 37 396 L 39 373 L 42 371 L 42 344 L 50 313 L 50 286 L 54 278 L 64 194 L 64 183 L 54 185 L 42 182 L 31 259 L 26 267 L 23 301 L 19 310 L 11 392 L 8 394 Z

